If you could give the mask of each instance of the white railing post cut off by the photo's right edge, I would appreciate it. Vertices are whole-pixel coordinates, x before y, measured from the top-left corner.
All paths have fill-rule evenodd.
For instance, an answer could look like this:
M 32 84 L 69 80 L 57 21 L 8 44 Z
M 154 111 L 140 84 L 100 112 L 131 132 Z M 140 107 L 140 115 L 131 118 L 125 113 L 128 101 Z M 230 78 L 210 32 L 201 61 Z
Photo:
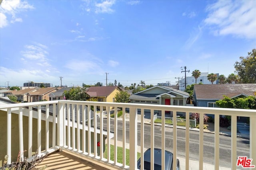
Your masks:
M 250 117 L 250 159 L 252 159 L 252 165 L 256 167 L 256 117 Z

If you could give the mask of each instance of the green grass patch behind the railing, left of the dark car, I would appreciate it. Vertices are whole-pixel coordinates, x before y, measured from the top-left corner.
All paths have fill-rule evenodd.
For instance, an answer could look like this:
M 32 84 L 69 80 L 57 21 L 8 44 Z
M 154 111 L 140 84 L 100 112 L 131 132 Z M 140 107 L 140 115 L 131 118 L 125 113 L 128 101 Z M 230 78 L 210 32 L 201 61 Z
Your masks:
M 105 149 L 105 152 L 103 154 L 104 158 L 108 158 L 108 148 L 107 148 L 107 145 L 106 145 L 106 149 Z M 129 162 L 129 149 L 126 149 L 126 165 L 130 166 L 130 162 Z M 139 159 L 140 158 L 140 153 L 137 152 L 137 158 Z M 110 160 L 113 160 L 114 161 L 114 145 L 110 145 Z M 117 147 L 117 162 L 119 163 L 123 163 L 123 148 L 122 147 Z

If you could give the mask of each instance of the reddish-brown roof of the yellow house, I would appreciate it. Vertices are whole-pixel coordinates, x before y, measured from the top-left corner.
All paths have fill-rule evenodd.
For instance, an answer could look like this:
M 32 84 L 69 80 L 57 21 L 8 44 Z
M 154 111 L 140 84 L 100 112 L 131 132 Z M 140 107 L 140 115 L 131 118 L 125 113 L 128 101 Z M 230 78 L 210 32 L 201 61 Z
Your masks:
M 92 86 L 86 91 L 86 93 L 90 97 L 107 97 L 117 88 L 121 90 L 118 86 Z

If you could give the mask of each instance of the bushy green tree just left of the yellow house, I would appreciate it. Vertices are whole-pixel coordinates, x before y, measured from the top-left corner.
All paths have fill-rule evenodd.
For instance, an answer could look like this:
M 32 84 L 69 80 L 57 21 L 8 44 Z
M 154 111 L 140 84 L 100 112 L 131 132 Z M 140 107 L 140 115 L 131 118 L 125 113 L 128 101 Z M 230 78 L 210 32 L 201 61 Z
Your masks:
M 64 91 L 66 100 L 81 100 L 86 101 L 90 96 L 86 93 L 86 88 L 71 88 L 68 91 Z

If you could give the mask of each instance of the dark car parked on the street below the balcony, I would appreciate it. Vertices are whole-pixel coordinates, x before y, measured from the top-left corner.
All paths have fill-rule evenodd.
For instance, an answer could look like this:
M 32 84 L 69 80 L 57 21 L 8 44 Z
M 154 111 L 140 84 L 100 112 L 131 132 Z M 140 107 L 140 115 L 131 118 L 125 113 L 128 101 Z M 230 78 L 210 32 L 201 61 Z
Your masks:
M 150 170 L 150 153 L 151 149 L 144 152 L 144 170 Z M 154 170 L 161 170 L 162 167 L 162 150 L 154 149 Z M 165 170 L 172 170 L 173 154 L 165 150 Z M 140 169 L 140 159 L 137 162 L 137 168 Z M 177 159 L 176 170 L 180 170 L 180 161 Z

